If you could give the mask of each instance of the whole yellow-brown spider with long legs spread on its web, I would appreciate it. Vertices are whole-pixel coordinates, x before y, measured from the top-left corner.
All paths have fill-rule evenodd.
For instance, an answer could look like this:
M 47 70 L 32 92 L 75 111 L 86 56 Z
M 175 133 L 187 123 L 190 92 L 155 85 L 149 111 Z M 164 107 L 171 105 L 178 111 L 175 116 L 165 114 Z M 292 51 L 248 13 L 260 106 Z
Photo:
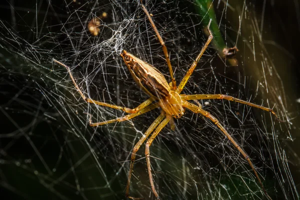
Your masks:
M 210 119 L 220 130 L 221 132 L 230 140 L 230 142 L 234 145 L 234 147 L 242 154 L 244 159 L 248 162 L 249 166 L 254 172 L 254 175 L 257 178 L 258 183 L 260 184 L 264 194 L 267 196 L 267 198 L 271 199 L 271 197 L 267 194 L 265 188 L 263 187 L 263 184 L 258 176 L 257 171 L 255 170 L 249 156 L 246 154 L 246 152 L 240 147 L 240 145 L 234 140 L 234 138 L 227 132 L 227 130 L 221 125 L 221 123 L 213 116 L 211 115 L 208 111 L 202 109 L 201 105 L 195 105 L 188 100 L 199 100 L 199 99 L 226 99 L 229 101 L 234 101 L 234 102 L 239 102 L 242 104 L 246 104 L 252 107 L 257 107 L 265 111 L 271 112 L 273 115 L 276 114 L 275 112 L 268 107 L 264 107 L 261 105 L 257 105 L 251 102 L 247 102 L 238 98 L 234 98 L 233 96 L 229 95 L 224 95 L 224 94 L 181 94 L 182 89 L 184 88 L 186 82 L 188 81 L 189 77 L 191 76 L 193 70 L 195 69 L 199 59 L 203 55 L 204 51 L 206 50 L 207 46 L 209 45 L 210 41 L 212 40 L 213 36 L 212 33 L 209 29 L 209 25 L 211 22 L 211 19 L 207 25 L 207 30 L 209 33 L 208 39 L 206 40 L 204 46 L 202 47 L 201 51 L 195 58 L 195 60 L 192 62 L 190 68 L 182 78 L 181 82 L 179 85 L 176 85 L 176 80 L 173 75 L 173 70 L 172 66 L 170 63 L 169 59 L 169 54 L 167 51 L 167 48 L 165 46 L 165 43 L 160 36 L 151 16 L 152 14 L 149 14 L 147 11 L 146 7 L 143 5 L 141 2 L 141 8 L 143 9 L 144 13 L 147 15 L 147 18 L 153 28 L 153 30 L 156 33 L 156 36 L 162 46 L 162 50 L 165 56 L 165 60 L 169 69 L 169 74 L 171 78 L 171 82 L 167 82 L 166 78 L 164 75 L 154 66 L 150 65 L 149 63 L 135 57 L 131 53 L 128 53 L 126 50 L 123 50 L 120 53 L 120 56 L 123 58 L 126 66 L 128 67 L 134 81 L 136 84 L 146 93 L 148 94 L 149 98 L 145 100 L 144 102 L 140 103 L 137 107 L 131 109 L 123 106 L 118 106 L 118 105 L 113 105 L 105 102 L 100 102 L 97 100 L 93 100 L 91 98 L 88 98 L 84 95 L 84 93 L 80 90 L 79 86 L 77 85 L 70 68 L 66 66 L 65 64 L 57 61 L 56 59 L 53 59 L 54 62 L 64 66 L 69 75 L 70 78 L 81 95 L 81 97 L 88 103 L 95 103 L 97 105 L 101 106 L 106 106 L 114 109 L 119 109 L 124 112 L 127 112 L 129 114 L 123 116 L 123 117 L 118 117 L 115 119 L 110 119 L 102 122 L 92 122 L 91 118 L 89 119 L 89 125 L 90 126 L 99 126 L 107 123 L 112 123 L 112 122 L 118 122 L 118 121 L 125 121 L 129 120 L 133 117 L 136 117 L 140 114 L 143 114 L 145 112 L 148 112 L 154 108 L 161 108 L 161 113 L 160 115 L 152 122 L 152 124 L 148 127 L 148 129 L 145 131 L 144 135 L 139 139 L 139 141 L 135 144 L 135 146 L 132 149 L 131 152 L 131 162 L 129 166 L 129 171 L 128 171 L 128 179 L 127 179 L 127 185 L 126 185 L 126 193 L 125 196 L 131 199 L 138 199 L 134 198 L 132 196 L 129 196 L 129 186 L 130 186 L 130 178 L 131 178 L 131 173 L 133 170 L 133 163 L 135 160 L 135 155 L 136 152 L 138 151 L 139 147 L 141 144 L 148 138 L 146 144 L 145 144 L 145 156 L 146 156 L 146 165 L 147 165 L 147 170 L 148 170 L 148 175 L 149 175 L 149 181 L 151 185 L 151 189 L 156 196 L 157 199 L 159 199 L 158 193 L 155 189 L 154 183 L 153 183 L 153 178 L 152 178 L 152 172 L 151 172 L 151 167 L 150 167 L 150 145 L 155 139 L 155 137 L 158 135 L 158 133 L 162 130 L 162 128 L 170 123 L 171 129 L 174 129 L 174 120 L 173 118 L 180 118 L 183 116 L 185 112 L 185 108 L 189 109 L 192 112 L 199 113 L 203 115 L 204 117 L 207 117 Z

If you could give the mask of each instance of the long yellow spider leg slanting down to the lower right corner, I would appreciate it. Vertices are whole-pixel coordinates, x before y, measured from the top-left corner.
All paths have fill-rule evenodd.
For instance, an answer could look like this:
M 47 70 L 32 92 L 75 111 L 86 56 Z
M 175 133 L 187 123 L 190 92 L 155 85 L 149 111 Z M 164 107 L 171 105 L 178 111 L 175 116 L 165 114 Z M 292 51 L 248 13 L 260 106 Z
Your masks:
M 264 194 L 268 197 L 268 199 L 271 200 L 271 197 L 267 194 L 265 188 L 262 185 L 262 182 L 258 176 L 257 171 L 255 170 L 249 156 L 245 153 L 245 151 L 237 144 L 237 142 L 233 139 L 233 137 L 226 131 L 226 129 L 220 124 L 220 122 L 213 116 L 211 115 L 209 112 L 203 110 L 201 107 L 194 105 L 188 101 L 183 101 L 183 106 L 190 109 L 191 111 L 195 112 L 195 113 L 200 113 L 203 116 L 209 118 L 223 133 L 224 135 L 231 141 L 231 143 L 234 145 L 234 147 L 242 154 L 242 156 L 245 158 L 245 160 L 247 160 L 248 164 L 250 165 L 250 167 L 252 168 L 259 184 L 260 187 L 262 188 Z

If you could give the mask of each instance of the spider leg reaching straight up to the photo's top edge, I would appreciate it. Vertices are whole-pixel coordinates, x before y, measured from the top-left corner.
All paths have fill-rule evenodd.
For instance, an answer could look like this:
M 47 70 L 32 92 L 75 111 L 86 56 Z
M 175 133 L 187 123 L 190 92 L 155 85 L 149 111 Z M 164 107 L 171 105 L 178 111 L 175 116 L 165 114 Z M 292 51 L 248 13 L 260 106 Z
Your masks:
M 160 34 L 159 34 L 159 32 L 158 32 L 158 30 L 157 30 L 157 28 L 156 28 L 156 26 L 155 26 L 155 24 L 154 24 L 151 16 L 150 16 L 147 8 L 142 4 L 142 0 L 140 0 L 140 3 L 141 3 L 142 9 L 146 13 L 146 15 L 147 15 L 147 17 L 148 17 L 148 19 L 149 19 L 149 21 L 150 21 L 150 23 L 151 23 L 154 31 L 155 31 L 157 37 L 158 37 L 158 40 L 159 40 L 159 42 L 160 42 L 160 44 L 162 46 L 162 50 L 163 50 L 163 53 L 164 53 L 164 56 L 165 56 L 165 60 L 166 60 L 167 66 L 169 68 L 169 72 L 170 72 L 170 76 L 171 76 L 171 80 L 172 80 L 172 87 L 173 87 L 173 90 L 175 90 L 176 87 L 177 87 L 176 86 L 176 80 L 175 80 L 174 75 L 173 75 L 173 69 L 172 69 L 172 66 L 171 66 L 170 58 L 169 58 L 169 55 L 168 55 L 165 43 L 164 43 L 162 37 L 160 36 Z

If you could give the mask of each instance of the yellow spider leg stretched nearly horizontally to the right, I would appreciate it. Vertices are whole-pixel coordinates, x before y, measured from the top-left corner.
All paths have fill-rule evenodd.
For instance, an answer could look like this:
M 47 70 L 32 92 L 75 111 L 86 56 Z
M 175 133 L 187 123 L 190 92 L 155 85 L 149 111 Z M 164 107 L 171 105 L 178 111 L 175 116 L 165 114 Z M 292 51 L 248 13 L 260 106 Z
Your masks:
M 228 96 L 228 95 L 224 95 L 224 94 L 190 94 L 190 95 L 180 94 L 180 96 L 184 100 L 226 99 L 226 100 L 230 100 L 230 101 L 250 105 L 252 107 L 257 107 L 259 109 L 263 109 L 265 111 L 271 112 L 277 118 L 276 113 L 271 108 L 264 107 L 264 106 L 261 106 L 261 105 L 257 105 L 257 104 L 254 104 L 254 103 L 250 103 L 248 101 L 241 100 L 241 99 L 238 99 L 238 98 L 234 98 L 233 96 Z

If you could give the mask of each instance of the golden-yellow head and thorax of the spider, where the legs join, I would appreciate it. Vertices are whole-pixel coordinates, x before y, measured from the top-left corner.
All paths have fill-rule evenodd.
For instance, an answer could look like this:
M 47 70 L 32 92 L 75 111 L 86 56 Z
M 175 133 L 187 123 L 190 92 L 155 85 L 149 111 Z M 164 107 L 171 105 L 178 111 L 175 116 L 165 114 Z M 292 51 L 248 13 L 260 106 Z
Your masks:
M 159 100 L 159 105 L 166 114 L 174 118 L 183 116 L 185 109 L 182 107 L 182 99 L 175 91 L 169 91 L 169 95 Z

